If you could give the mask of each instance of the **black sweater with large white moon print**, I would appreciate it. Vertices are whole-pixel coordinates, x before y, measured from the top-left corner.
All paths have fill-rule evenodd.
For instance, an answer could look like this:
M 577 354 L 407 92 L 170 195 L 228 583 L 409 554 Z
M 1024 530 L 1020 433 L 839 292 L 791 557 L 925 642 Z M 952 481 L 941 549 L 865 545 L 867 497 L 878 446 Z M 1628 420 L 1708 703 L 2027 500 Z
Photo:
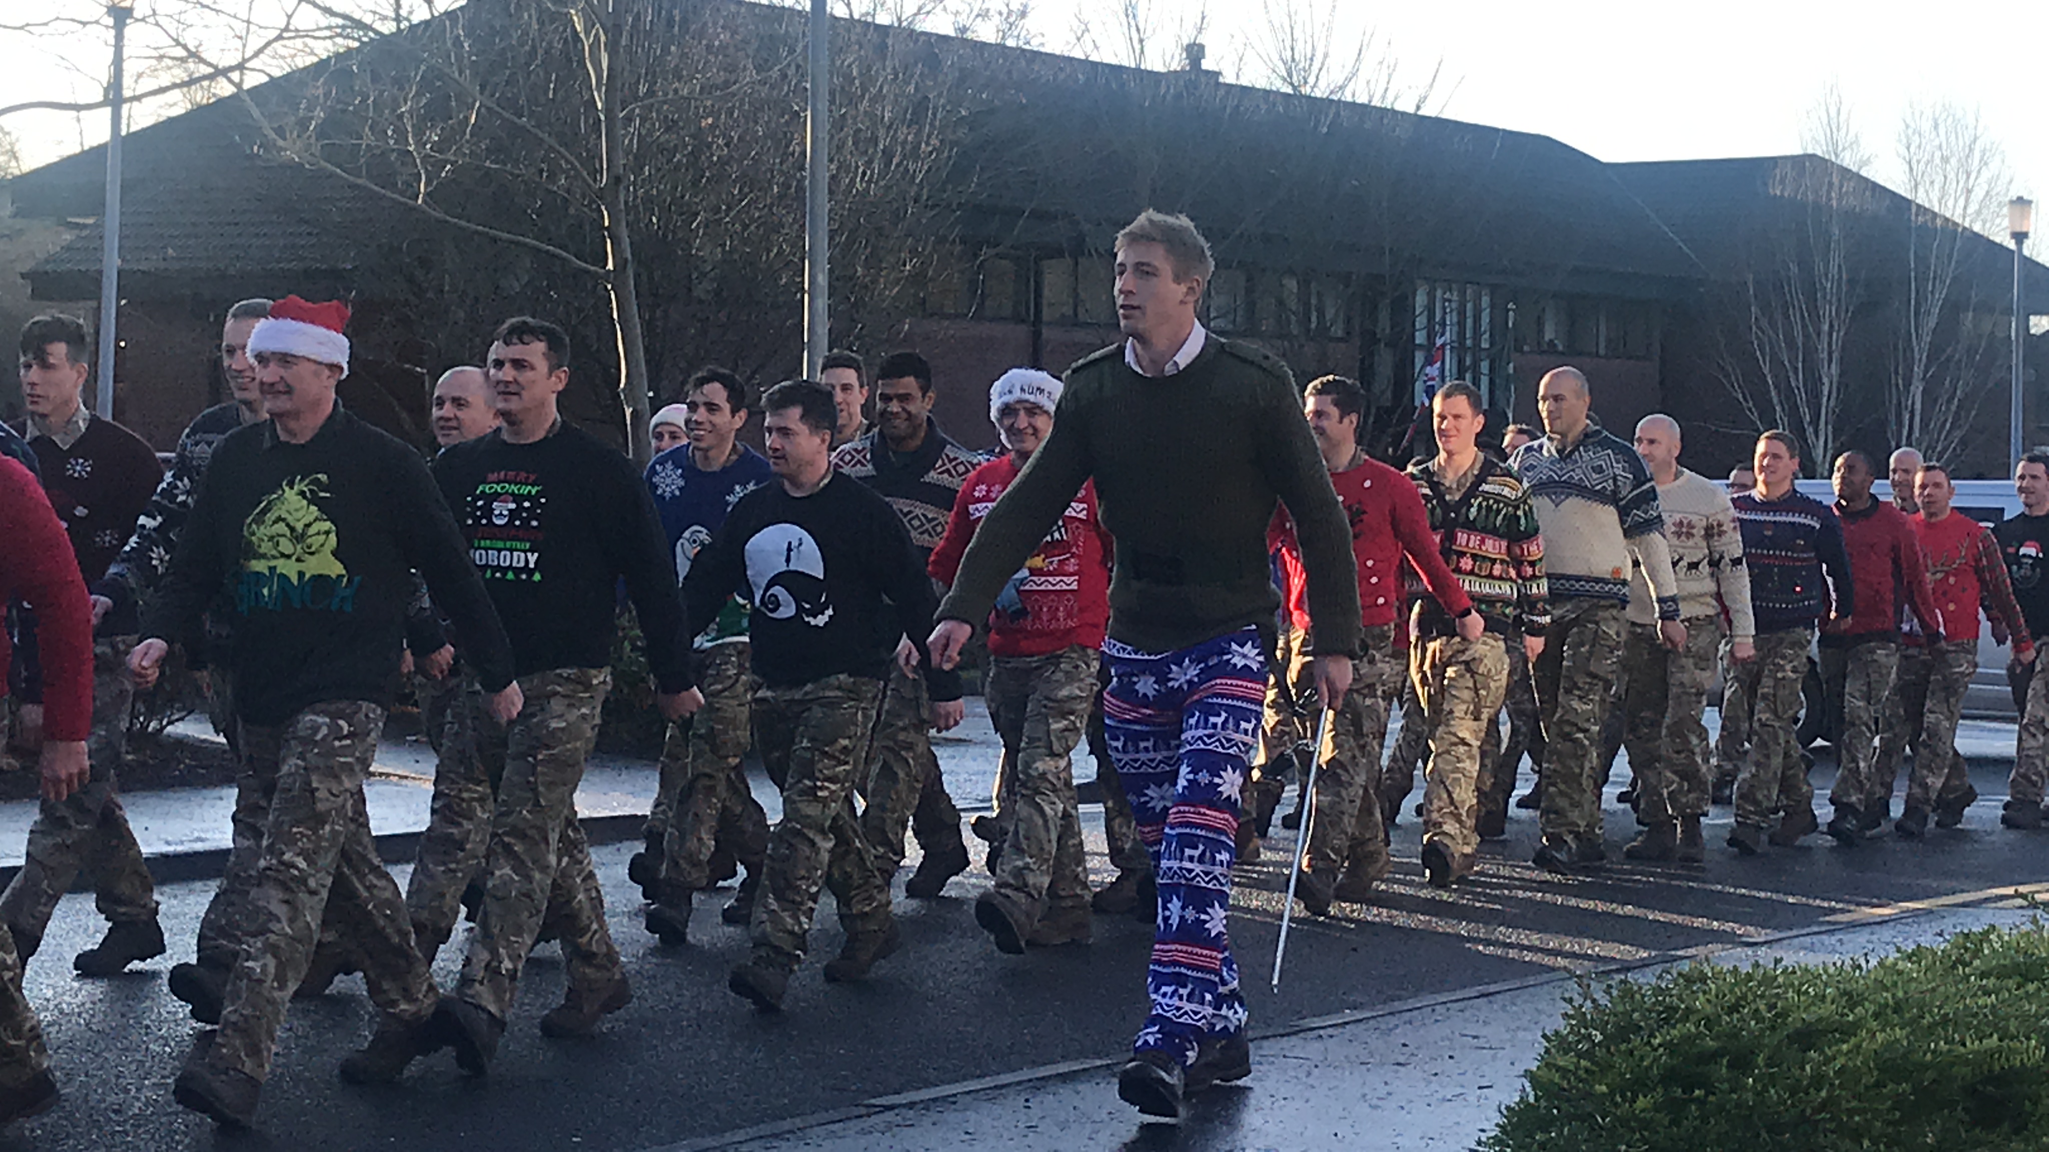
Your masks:
M 887 500 L 834 476 L 809 496 L 781 482 L 740 498 L 682 582 L 695 635 L 734 590 L 754 603 L 754 674 L 768 687 L 826 676 L 883 678 L 910 635 L 934 701 L 961 699 L 961 676 L 924 652 L 936 596 L 910 531 Z

